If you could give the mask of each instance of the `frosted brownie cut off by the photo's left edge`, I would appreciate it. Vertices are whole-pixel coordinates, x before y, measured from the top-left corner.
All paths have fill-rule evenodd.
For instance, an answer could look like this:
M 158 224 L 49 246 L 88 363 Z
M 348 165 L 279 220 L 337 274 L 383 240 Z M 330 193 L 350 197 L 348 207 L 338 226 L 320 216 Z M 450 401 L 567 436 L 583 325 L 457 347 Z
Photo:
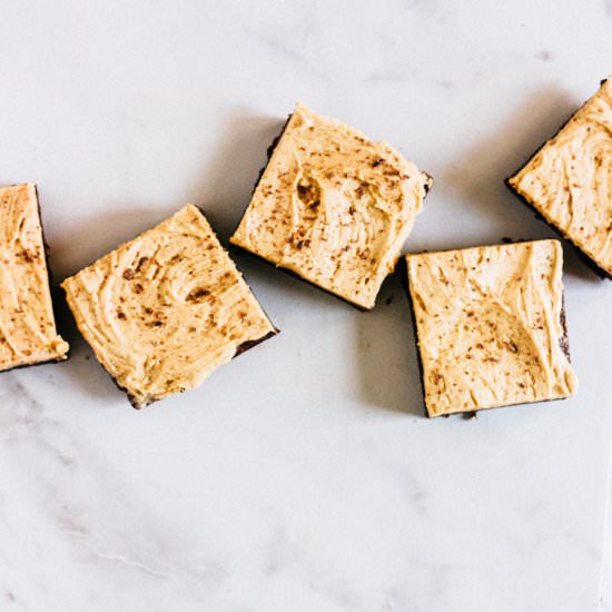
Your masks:
M 32 184 L 0 188 L 0 371 L 66 359 Z

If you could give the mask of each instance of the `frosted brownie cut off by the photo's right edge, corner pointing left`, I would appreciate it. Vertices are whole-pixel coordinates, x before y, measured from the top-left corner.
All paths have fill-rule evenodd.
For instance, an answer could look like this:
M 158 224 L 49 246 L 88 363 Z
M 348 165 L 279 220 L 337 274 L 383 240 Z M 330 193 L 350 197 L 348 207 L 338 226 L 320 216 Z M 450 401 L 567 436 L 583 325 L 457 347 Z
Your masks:
M 506 182 L 612 278 L 612 80 Z

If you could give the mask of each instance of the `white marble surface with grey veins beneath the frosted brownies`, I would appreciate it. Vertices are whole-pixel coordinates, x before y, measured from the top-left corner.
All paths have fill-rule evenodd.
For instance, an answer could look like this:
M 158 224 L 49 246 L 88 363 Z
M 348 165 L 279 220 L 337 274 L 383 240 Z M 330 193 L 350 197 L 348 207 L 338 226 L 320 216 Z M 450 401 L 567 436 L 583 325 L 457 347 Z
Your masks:
M 187 200 L 227 237 L 296 99 L 434 175 L 407 248 L 550 236 L 502 179 L 612 71 L 610 0 L 1 9 L 58 278 Z M 566 250 L 575 398 L 427 421 L 397 276 L 363 314 L 236 257 L 283 333 L 200 389 L 132 411 L 66 313 L 69 362 L 1 376 L 0 610 L 598 609 L 612 284 Z

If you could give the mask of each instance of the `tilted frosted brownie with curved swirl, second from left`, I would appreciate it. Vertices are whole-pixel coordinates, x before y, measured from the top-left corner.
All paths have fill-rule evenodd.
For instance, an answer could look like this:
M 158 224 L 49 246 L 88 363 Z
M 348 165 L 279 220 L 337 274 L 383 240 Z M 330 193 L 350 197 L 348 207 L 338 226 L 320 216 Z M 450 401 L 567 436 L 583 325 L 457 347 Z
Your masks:
M 277 333 L 191 205 L 61 286 L 80 332 L 135 408 L 196 387 Z

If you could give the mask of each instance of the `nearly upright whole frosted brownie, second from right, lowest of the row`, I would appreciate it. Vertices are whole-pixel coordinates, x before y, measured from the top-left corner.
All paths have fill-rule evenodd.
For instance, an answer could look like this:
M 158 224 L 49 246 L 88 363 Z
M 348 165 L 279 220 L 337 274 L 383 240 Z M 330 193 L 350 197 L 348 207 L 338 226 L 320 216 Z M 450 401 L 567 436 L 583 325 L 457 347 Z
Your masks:
M 406 259 L 430 416 L 575 393 L 557 240 Z

